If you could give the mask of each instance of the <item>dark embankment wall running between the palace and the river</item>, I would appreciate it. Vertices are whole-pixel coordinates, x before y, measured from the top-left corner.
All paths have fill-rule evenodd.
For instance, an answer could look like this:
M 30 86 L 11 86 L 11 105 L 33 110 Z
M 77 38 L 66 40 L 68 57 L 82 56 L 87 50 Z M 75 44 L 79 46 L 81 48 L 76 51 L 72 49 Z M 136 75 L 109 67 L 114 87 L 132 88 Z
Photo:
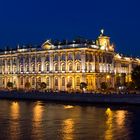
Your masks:
M 43 92 L 0 91 L 0 99 L 12 100 L 46 100 L 74 103 L 108 103 L 108 104 L 139 104 L 139 94 L 68 94 Z

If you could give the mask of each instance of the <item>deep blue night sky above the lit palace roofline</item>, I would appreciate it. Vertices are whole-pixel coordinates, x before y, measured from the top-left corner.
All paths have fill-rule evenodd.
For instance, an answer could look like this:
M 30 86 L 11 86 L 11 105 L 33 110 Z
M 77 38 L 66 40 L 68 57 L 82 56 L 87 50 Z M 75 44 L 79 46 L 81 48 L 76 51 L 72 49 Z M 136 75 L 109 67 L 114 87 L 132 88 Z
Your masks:
M 117 51 L 140 56 L 139 5 L 139 0 L 0 0 L 0 47 L 96 39 L 104 28 Z

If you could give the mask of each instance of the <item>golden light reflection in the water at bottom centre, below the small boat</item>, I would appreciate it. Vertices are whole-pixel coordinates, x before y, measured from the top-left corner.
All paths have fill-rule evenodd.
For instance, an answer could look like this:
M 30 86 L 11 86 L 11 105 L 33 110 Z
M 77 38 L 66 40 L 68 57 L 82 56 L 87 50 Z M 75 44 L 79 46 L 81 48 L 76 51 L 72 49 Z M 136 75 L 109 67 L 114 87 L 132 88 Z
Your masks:
M 63 140 L 73 140 L 74 139 L 74 121 L 73 119 L 66 119 L 63 121 Z

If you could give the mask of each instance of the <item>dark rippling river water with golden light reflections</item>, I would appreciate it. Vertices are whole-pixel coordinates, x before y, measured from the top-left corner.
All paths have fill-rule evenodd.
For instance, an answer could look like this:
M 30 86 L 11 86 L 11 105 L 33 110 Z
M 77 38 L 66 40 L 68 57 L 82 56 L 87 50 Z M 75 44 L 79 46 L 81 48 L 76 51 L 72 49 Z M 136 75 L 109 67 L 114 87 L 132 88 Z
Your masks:
M 139 139 L 140 107 L 0 101 L 0 140 Z

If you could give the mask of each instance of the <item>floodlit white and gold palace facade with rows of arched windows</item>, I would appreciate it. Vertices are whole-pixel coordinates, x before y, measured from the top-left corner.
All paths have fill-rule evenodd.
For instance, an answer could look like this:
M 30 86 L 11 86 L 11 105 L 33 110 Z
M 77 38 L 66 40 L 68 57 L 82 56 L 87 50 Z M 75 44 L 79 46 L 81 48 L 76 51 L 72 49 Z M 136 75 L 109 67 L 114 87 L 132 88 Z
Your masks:
M 79 90 L 87 83 L 87 90 L 100 89 L 102 82 L 110 88 L 131 81 L 131 71 L 140 59 L 124 57 L 114 50 L 110 37 L 103 30 L 96 41 L 75 40 L 65 43 L 46 41 L 40 48 L 28 47 L 0 52 L 0 88 L 12 82 L 15 88 L 32 89 L 45 82 L 47 89 Z

